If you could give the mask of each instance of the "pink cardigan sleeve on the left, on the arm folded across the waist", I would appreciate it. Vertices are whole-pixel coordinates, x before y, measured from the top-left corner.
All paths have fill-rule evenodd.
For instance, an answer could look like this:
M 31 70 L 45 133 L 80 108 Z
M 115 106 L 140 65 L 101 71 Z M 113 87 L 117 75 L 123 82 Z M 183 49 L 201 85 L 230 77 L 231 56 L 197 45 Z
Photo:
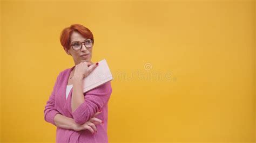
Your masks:
M 54 122 L 54 117 L 56 116 L 57 113 L 59 113 L 59 111 L 55 109 L 55 93 L 56 93 L 56 88 L 58 85 L 59 78 L 60 78 L 60 74 L 57 77 L 57 80 L 55 82 L 51 95 L 49 97 L 49 100 L 46 102 L 46 105 L 44 108 L 44 120 L 55 126 L 56 124 Z

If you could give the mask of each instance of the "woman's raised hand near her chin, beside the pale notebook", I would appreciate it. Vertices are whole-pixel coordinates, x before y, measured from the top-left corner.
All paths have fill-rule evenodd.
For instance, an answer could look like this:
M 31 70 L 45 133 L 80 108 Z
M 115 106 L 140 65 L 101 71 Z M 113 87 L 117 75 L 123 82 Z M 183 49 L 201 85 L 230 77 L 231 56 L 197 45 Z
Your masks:
M 98 62 L 95 64 L 91 64 L 90 62 L 80 62 L 75 67 L 74 76 L 72 78 L 83 79 L 87 77 L 93 69 L 95 69 L 98 65 Z

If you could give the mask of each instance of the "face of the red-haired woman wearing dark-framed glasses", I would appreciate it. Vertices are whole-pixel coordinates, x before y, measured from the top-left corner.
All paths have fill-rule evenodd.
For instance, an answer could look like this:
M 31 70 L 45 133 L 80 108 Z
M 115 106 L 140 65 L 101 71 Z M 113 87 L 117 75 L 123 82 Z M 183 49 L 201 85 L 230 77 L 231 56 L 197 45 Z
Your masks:
M 74 42 L 74 41 L 85 42 L 85 40 L 87 40 L 87 39 L 84 38 L 80 33 L 74 31 L 71 34 L 70 40 L 71 40 L 70 43 L 72 44 L 72 42 Z M 73 57 L 75 65 L 78 65 L 80 62 L 85 62 L 85 61 L 86 62 L 91 62 L 92 47 L 91 48 L 86 48 L 84 43 L 82 44 L 82 48 L 78 49 L 78 50 L 74 50 L 70 45 L 70 48 L 65 49 L 65 52 L 68 55 L 71 55 Z

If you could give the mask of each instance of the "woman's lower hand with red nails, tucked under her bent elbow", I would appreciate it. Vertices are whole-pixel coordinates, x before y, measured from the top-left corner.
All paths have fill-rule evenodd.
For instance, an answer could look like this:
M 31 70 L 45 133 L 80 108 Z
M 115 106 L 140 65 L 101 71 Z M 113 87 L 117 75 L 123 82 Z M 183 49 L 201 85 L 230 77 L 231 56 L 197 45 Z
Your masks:
M 82 125 L 75 124 L 75 126 L 73 127 L 73 130 L 75 131 L 89 130 L 92 134 L 97 132 L 97 128 L 95 125 L 102 123 L 102 120 L 96 118 L 96 116 L 99 115 L 99 113 L 101 112 L 95 113 L 95 115 L 93 115 L 93 117 L 89 121 L 86 121 L 86 123 Z

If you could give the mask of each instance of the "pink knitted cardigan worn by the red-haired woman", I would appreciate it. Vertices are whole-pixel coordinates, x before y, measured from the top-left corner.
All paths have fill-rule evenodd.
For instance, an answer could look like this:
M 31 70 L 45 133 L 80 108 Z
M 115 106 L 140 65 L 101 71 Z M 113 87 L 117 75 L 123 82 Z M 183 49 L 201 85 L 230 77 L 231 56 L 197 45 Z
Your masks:
M 92 134 L 89 130 L 74 131 L 65 128 L 57 127 L 56 130 L 56 142 L 108 142 L 107 139 L 107 103 L 110 99 L 112 93 L 111 83 L 107 82 L 99 87 L 85 92 L 85 101 L 82 103 L 73 113 L 71 110 L 71 89 L 68 99 L 66 99 L 66 85 L 68 84 L 68 78 L 72 71 L 72 68 L 65 69 L 60 72 L 56 83 L 53 87 L 53 91 L 46 102 L 44 109 L 44 119 L 45 121 L 56 126 L 53 118 L 57 113 L 63 116 L 73 118 L 76 123 L 84 124 L 89 120 L 96 112 L 102 110 L 97 118 L 103 120 L 103 124 L 96 125 L 97 133 Z

